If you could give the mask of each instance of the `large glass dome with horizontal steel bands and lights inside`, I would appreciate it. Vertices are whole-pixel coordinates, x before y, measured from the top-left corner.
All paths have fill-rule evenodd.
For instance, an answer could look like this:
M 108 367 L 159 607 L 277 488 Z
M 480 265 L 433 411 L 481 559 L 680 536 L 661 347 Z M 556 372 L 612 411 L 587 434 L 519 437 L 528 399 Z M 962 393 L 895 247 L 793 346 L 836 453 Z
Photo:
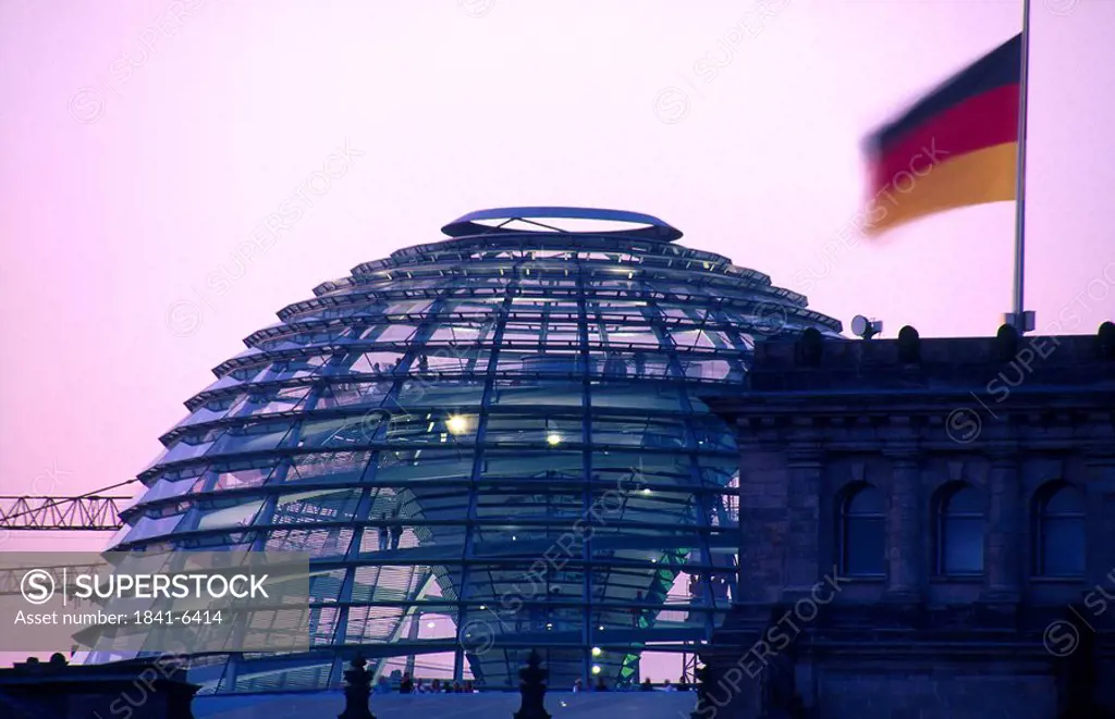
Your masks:
M 593 219 L 639 228 L 561 228 Z M 140 474 L 114 550 L 313 558 L 311 651 L 196 658 L 204 692 L 336 687 L 357 649 L 498 687 L 536 648 L 553 687 L 615 686 L 724 617 L 738 457 L 698 396 L 756 342 L 840 323 L 648 216 L 445 232 L 282 309 Z

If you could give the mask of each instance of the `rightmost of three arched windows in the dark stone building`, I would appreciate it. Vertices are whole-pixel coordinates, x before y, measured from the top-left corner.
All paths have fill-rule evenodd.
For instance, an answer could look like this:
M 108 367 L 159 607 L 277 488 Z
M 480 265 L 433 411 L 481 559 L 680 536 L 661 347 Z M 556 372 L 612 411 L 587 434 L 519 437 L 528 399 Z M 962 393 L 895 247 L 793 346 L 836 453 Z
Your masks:
M 1084 575 L 1084 498 L 1064 482 L 1037 494 L 1037 573 L 1040 577 Z

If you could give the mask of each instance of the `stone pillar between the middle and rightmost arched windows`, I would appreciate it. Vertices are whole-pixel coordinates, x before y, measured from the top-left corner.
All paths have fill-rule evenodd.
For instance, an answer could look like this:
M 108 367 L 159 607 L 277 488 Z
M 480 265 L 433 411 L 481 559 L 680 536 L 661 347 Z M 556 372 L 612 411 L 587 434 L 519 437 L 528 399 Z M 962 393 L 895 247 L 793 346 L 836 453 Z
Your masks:
M 1017 450 L 990 455 L 987 540 L 983 550 L 986 584 L 982 600 L 1017 604 L 1022 594 L 1022 489 Z

